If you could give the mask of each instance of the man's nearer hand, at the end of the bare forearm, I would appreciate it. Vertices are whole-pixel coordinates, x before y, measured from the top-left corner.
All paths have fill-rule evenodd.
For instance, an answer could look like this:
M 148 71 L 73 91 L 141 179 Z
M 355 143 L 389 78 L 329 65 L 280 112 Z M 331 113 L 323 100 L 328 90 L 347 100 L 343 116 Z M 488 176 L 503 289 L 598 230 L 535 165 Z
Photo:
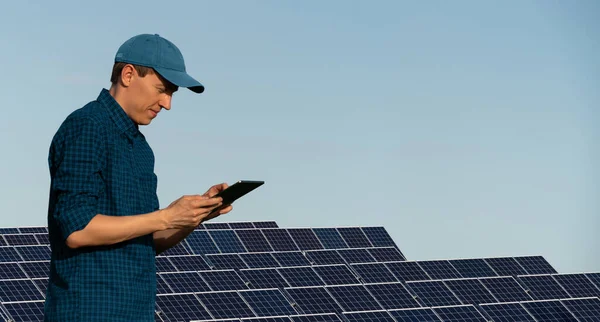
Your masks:
M 183 196 L 161 211 L 166 229 L 195 228 L 215 208 L 221 206 L 222 198 L 203 195 Z

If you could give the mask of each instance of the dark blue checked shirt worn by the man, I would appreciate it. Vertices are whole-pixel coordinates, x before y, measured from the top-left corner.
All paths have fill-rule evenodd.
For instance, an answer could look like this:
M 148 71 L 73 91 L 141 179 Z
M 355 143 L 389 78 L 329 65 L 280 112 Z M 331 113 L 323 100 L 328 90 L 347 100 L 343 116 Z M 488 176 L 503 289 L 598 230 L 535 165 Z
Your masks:
M 49 151 L 52 258 L 46 321 L 154 321 L 152 234 L 116 245 L 67 247 L 96 214 L 158 209 L 154 154 L 138 126 L 103 89 L 71 113 Z

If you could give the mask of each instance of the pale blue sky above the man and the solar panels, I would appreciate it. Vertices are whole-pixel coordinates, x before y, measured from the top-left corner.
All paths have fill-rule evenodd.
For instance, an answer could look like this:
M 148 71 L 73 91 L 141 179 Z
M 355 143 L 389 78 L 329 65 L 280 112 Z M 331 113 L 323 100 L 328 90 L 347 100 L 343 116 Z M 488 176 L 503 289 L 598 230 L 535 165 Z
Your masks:
M 598 21 L 594 0 L 6 2 L 0 226 L 46 225 L 56 129 L 158 33 L 206 86 L 142 129 L 161 206 L 265 180 L 218 221 L 600 271 Z

